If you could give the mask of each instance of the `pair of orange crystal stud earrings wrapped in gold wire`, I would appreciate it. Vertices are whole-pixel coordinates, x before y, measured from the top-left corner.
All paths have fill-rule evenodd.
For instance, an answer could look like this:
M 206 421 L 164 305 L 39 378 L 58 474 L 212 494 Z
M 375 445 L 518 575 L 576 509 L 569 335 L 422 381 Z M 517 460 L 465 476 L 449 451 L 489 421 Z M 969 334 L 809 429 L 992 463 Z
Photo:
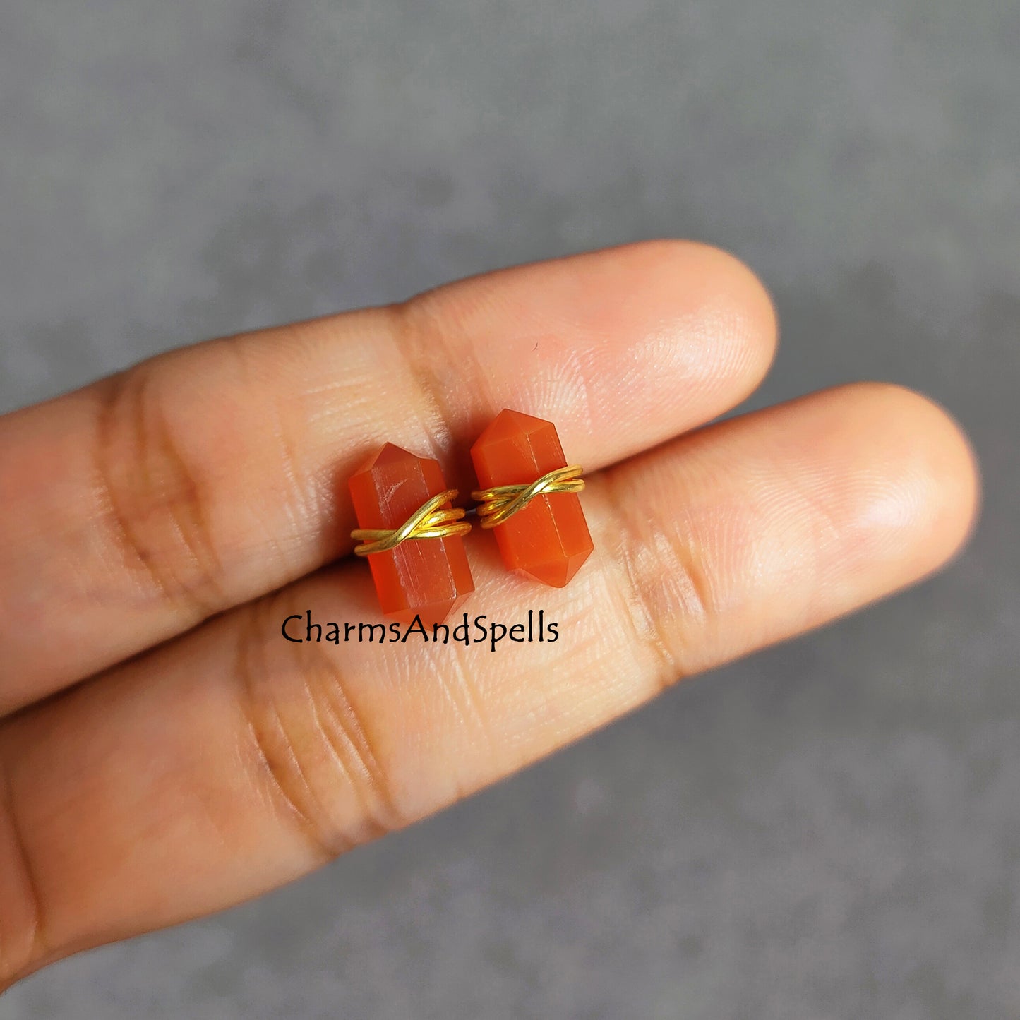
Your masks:
M 556 426 L 501 411 L 471 447 L 479 526 L 496 537 L 509 570 L 563 588 L 594 546 Z M 368 560 L 382 612 L 402 622 L 441 623 L 474 591 L 462 537 L 471 529 L 439 462 L 392 443 L 350 478 L 358 527 L 354 552 Z

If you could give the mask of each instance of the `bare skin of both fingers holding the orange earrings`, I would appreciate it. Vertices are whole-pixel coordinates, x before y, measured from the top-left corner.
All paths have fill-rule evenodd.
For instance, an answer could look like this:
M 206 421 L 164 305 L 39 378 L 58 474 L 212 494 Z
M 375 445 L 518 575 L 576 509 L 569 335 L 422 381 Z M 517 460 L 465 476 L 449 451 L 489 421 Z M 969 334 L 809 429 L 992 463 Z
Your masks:
M 650 242 L 173 351 L 0 418 L 0 985 L 407 825 L 677 679 L 919 580 L 977 503 L 958 426 L 883 384 L 700 427 L 776 323 L 716 249 Z M 465 540 L 469 615 L 555 645 L 292 644 L 376 620 L 346 478 L 556 422 L 596 551 L 562 590 Z M 696 430 L 697 429 L 697 430 Z

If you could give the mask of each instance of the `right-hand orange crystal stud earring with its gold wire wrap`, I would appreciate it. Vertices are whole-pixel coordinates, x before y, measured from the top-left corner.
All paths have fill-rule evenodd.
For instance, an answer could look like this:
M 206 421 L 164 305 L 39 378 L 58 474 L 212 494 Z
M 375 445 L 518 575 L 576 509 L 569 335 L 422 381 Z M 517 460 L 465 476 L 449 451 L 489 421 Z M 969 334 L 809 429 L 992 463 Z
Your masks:
M 595 548 L 577 498 L 581 468 L 567 465 L 551 421 L 503 410 L 471 447 L 478 523 L 492 528 L 508 570 L 563 588 Z

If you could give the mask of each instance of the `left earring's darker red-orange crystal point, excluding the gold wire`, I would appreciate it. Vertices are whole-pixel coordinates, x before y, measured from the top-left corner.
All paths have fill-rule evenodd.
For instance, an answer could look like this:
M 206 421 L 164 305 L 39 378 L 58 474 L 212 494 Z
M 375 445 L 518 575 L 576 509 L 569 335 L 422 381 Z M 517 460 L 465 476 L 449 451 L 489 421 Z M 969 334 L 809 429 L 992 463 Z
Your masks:
M 447 488 L 439 461 L 415 457 L 392 443 L 369 457 L 348 484 L 358 526 L 373 528 L 399 527 Z M 382 612 L 402 623 L 411 623 L 416 615 L 426 627 L 442 623 L 474 591 L 459 534 L 408 539 L 365 559 Z

